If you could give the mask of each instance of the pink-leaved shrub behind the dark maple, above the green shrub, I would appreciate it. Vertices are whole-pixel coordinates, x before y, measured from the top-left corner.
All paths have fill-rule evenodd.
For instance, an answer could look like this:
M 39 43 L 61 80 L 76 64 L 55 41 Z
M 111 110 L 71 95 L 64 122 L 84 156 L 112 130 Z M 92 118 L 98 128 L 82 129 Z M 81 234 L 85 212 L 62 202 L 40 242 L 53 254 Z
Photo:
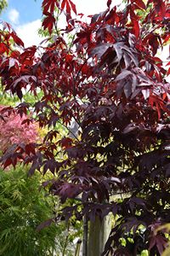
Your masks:
M 0 106 L 0 112 L 4 106 Z M 18 113 L 1 114 L 0 116 L 0 150 L 4 151 L 14 143 L 35 143 L 37 141 L 37 125 L 22 124 L 28 117 L 20 117 Z

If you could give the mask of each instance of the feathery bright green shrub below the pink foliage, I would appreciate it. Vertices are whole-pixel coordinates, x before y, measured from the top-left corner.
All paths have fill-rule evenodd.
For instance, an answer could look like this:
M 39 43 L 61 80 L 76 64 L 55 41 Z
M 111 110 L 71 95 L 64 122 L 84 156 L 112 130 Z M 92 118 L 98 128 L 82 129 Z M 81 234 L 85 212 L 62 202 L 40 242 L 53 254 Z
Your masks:
M 39 190 L 39 175 L 0 170 L 0 255 L 54 255 L 60 226 L 37 226 L 52 217 L 52 198 Z

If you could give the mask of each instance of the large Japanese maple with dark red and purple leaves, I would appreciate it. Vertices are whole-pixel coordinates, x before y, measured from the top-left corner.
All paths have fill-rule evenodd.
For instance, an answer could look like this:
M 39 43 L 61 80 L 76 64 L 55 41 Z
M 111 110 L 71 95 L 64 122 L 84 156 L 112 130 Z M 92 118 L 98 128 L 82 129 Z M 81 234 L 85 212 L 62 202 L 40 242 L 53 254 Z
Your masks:
M 60 32 L 56 9 L 67 21 Z M 35 96 L 33 106 L 22 101 L 15 111 L 33 109 L 48 133 L 43 143 L 6 150 L 1 161 L 8 166 L 20 158 L 31 164 L 30 174 L 54 173 L 43 185 L 62 203 L 77 200 L 60 213 L 65 218 L 86 214 L 93 221 L 112 212 L 116 226 L 103 255 L 137 255 L 144 249 L 159 255 L 167 238 L 156 229 L 170 222 L 170 62 L 156 53 L 170 39 L 170 4 L 129 0 L 120 9 L 108 0 L 107 9 L 89 23 L 79 19 L 71 0 L 44 0 L 42 11 L 42 28 L 53 34 L 53 43 L 25 49 L 4 23 L 0 75 L 4 90 L 21 101 L 24 89 Z M 59 136 L 58 123 L 65 137 Z

